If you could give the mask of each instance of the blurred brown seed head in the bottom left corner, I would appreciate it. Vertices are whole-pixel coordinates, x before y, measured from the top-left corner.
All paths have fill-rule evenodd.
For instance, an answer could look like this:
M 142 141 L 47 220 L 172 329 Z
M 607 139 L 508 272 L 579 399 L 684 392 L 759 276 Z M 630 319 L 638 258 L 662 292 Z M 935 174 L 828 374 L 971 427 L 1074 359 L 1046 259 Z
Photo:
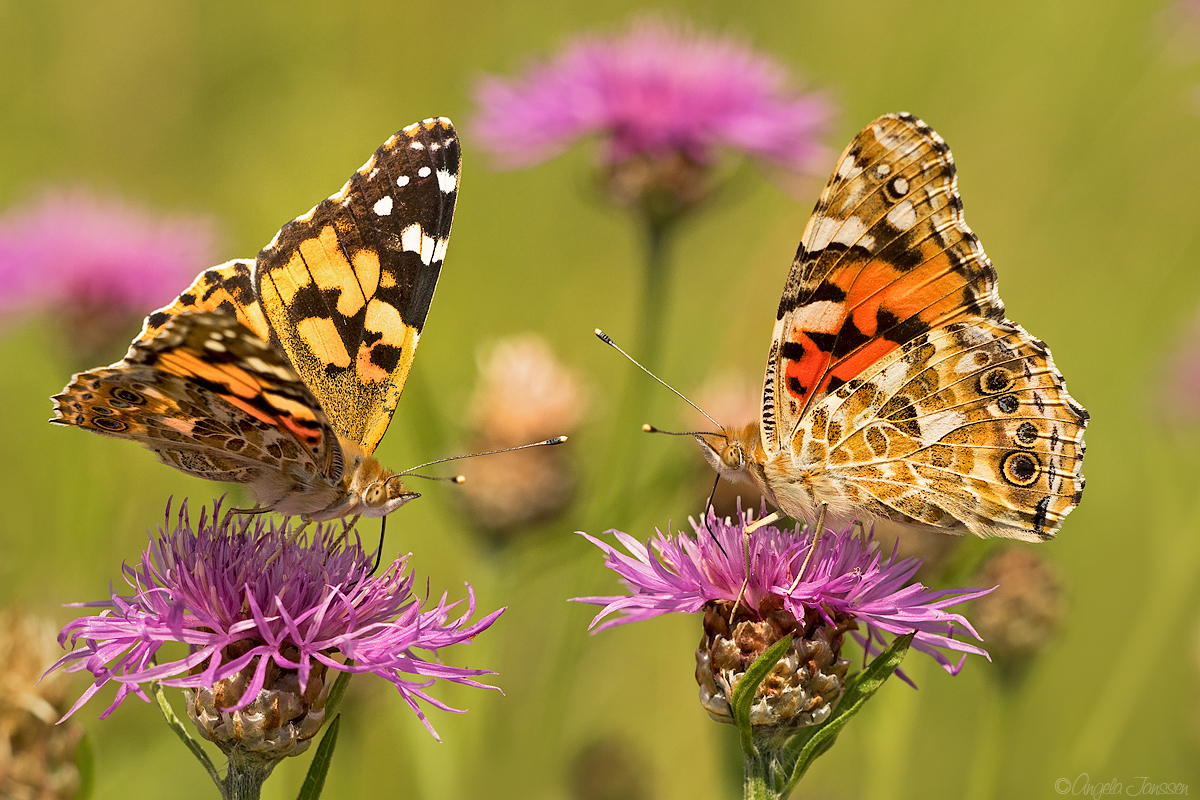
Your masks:
M 56 633 L 49 620 L 0 612 L 0 798 L 56 800 L 79 788 L 83 728 L 55 724 L 71 708 L 70 681 L 60 672 L 41 680 L 61 652 Z

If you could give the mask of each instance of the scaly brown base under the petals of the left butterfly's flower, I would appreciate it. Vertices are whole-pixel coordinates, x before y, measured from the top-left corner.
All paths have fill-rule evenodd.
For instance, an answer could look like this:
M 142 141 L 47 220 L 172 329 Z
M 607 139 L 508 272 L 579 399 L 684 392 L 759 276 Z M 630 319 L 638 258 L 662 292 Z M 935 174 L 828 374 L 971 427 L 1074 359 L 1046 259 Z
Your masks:
M 238 642 L 226 648 L 224 656 L 236 658 L 254 644 Z M 325 681 L 325 666 L 313 664 L 308 685 L 301 688 L 294 669 L 283 669 L 271 662 L 258 698 L 236 711 L 222 711 L 241 699 L 257 667 L 258 661 L 254 660 L 238 674 L 217 681 L 210 688 L 184 690 L 187 716 L 200 735 L 215 742 L 227 756 L 239 751 L 242 757 L 257 757 L 271 763 L 299 756 L 308 750 L 312 738 L 325 723 L 330 686 Z

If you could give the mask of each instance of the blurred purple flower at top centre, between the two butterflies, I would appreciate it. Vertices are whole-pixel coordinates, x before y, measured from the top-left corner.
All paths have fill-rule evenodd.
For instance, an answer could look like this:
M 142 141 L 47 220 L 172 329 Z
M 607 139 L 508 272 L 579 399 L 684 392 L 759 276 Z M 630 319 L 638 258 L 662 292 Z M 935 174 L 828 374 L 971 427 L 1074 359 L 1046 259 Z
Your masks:
M 484 78 L 475 131 L 502 164 L 539 163 L 600 136 L 607 164 L 682 154 L 712 163 L 730 149 L 803 172 L 832 115 L 786 89 L 786 70 L 727 36 L 642 19 L 617 36 L 581 36 L 514 80 Z

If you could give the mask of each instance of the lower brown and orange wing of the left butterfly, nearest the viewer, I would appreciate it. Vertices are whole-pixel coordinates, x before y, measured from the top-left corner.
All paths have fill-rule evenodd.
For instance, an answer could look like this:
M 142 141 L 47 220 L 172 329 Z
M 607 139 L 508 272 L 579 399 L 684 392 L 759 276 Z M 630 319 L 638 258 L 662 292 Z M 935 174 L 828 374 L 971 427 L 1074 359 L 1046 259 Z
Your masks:
M 166 464 L 250 485 L 284 512 L 337 495 L 337 438 L 299 375 L 222 312 L 186 312 L 126 359 L 73 377 L 54 398 L 59 425 L 137 441 Z M 292 510 L 286 497 L 304 498 Z

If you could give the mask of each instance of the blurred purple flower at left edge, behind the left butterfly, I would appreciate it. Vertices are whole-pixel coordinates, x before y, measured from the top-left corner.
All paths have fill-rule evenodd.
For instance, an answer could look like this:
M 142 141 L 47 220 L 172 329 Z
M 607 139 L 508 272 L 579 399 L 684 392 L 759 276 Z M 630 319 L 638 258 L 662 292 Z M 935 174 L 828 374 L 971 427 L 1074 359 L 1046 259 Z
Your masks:
M 0 216 L 0 314 L 65 308 L 140 317 L 214 263 L 212 225 L 82 190 Z

